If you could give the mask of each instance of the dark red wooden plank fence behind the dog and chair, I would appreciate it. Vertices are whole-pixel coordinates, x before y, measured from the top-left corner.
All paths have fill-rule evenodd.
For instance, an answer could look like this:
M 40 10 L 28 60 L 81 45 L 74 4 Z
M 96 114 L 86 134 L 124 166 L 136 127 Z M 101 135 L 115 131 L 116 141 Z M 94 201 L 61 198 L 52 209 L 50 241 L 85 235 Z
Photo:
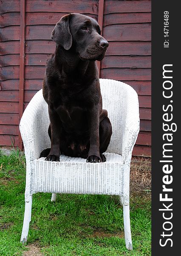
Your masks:
M 99 21 L 109 41 L 100 77 L 130 84 L 139 95 L 140 132 L 133 155 L 151 155 L 151 1 L 1 0 L 0 145 L 19 146 L 20 117 L 42 88 L 50 40 L 63 15 L 79 12 Z

